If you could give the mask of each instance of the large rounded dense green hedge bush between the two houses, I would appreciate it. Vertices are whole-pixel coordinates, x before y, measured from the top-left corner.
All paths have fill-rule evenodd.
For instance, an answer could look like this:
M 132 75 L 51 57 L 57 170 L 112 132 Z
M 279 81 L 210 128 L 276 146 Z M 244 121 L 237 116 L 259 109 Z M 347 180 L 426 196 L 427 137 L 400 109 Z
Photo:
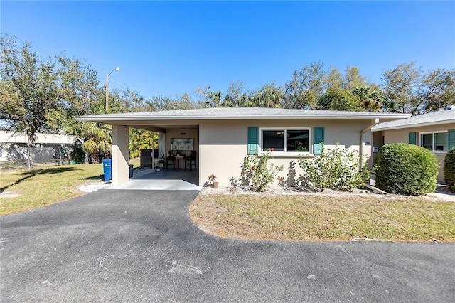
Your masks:
M 436 189 L 439 165 L 423 147 L 407 143 L 386 144 L 375 159 L 376 186 L 387 193 L 419 196 Z

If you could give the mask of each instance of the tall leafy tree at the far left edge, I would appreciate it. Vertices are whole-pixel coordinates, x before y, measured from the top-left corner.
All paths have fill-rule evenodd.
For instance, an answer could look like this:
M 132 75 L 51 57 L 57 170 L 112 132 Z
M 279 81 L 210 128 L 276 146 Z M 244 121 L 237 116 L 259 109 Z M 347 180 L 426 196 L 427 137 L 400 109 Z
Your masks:
M 16 45 L 15 38 L 0 38 L 0 119 L 14 132 L 25 132 L 28 146 L 36 132 L 48 129 L 46 115 L 58 105 L 54 63 L 38 60 L 30 44 Z

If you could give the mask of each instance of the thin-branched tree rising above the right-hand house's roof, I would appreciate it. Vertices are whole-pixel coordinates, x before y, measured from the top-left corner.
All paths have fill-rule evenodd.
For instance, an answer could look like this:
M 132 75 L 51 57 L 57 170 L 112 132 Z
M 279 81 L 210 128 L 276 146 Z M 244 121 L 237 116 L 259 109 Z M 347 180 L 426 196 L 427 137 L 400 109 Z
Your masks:
M 455 70 L 424 73 L 415 62 L 400 64 L 382 77 L 384 107 L 389 112 L 419 115 L 455 102 Z

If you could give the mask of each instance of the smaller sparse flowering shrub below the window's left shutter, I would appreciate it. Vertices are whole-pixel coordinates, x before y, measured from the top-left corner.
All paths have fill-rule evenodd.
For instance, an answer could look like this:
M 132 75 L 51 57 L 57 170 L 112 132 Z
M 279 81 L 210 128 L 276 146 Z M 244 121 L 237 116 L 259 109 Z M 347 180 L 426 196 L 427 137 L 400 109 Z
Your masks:
M 268 166 L 268 161 L 272 162 Z M 283 170 L 283 166 L 275 166 L 270 157 L 270 153 L 266 152 L 262 156 L 248 155 L 245 157 L 245 162 L 242 165 L 242 174 L 245 174 L 247 183 L 251 183 L 255 191 L 263 191 L 274 180 L 279 171 Z

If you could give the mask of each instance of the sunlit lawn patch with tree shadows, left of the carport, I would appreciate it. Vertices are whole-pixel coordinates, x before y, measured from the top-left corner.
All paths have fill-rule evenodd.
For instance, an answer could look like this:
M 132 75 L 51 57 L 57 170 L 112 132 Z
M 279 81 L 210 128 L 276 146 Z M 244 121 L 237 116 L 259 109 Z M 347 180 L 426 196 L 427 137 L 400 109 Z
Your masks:
M 27 211 L 81 196 L 77 186 L 102 179 L 101 164 L 77 164 L 15 169 L 6 162 L 0 166 L 0 192 L 20 196 L 0 198 L 0 215 Z

